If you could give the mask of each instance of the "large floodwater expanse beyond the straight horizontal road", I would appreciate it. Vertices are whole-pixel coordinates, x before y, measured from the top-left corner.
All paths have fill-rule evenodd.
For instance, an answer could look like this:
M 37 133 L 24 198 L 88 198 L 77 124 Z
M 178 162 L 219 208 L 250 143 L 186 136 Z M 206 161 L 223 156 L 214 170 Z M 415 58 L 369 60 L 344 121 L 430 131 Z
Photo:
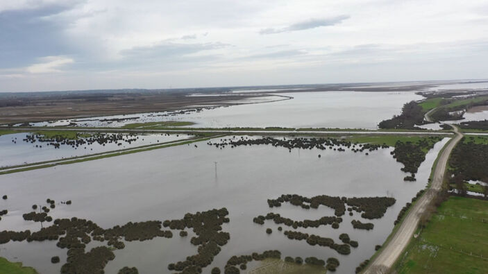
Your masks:
M 400 114 L 403 104 L 423 99 L 414 92 L 292 92 L 280 94 L 293 99 L 271 103 L 232 105 L 201 112 L 168 114 L 153 112 L 90 119 L 35 123 L 35 126 L 124 126 L 151 121 L 192 121 L 193 128 L 289 127 L 289 128 L 367 128 Z M 130 119 L 138 117 L 137 119 Z M 100 121 L 101 119 L 128 119 Z

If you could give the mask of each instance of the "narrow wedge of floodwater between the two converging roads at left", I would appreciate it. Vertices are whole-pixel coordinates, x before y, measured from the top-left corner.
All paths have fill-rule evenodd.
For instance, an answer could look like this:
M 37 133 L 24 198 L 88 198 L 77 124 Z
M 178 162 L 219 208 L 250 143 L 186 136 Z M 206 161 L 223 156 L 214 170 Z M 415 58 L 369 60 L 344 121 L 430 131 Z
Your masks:
M 95 142 L 90 145 L 85 144 L 78 148 L 73 148 L 68 145 L 61 145 L 60 148 L 54 148 L 54 146 L 47 146 L 47 143 L 45 142 L 35 142 L 34 144 L 31 144 L 29 142 L 22 141 L 26 138 L 26 135 L 32 135 L 32 133 L 22 132 L 0 136 L 0 167 L 15 166 L 18 164 L 31 164 L 35 162 L 44 162 L 108 151 L 117 151 L 119 149 L 134 148 L 136 146 L 144 146 L 149 144 L 162 144 L 165 142 L 187 139 L 190 137 L 190 135 L 183 134 L 178 134 L 178 136 L 145 134 L 137 135 L 139 138 L 129 144 L 128 142 L 125 142 L 124 139 L 135 137 L 122 134 L 124 139 L 115 143 L 102 145 Z M 117 143 L 120 143 L 121 146 L 118 146 Z M 42 147 L 35 147 L 36 145 Z

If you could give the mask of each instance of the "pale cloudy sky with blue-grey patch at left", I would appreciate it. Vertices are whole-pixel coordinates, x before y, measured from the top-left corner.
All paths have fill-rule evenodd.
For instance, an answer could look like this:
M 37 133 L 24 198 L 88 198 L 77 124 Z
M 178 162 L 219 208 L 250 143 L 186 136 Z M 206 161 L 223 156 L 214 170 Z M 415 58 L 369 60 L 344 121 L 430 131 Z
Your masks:
M 0 92 L 477 78 L 486 0 L 0 0 Z

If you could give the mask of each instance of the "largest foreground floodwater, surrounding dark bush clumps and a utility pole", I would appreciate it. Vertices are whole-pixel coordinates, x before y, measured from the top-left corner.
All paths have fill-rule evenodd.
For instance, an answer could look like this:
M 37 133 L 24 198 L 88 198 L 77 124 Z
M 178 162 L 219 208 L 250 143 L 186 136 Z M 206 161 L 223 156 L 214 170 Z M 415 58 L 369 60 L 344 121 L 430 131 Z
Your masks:
M 353 273 L 355 267 L 369 259 L 374 246 L 382 244 L 392 231 L 398 212 L 420 189 L 426 187 L 432 163 L 447 138 L 435 144 L 426 155 L 417 173 L 417 182 L 404 182 L 392 148 L 372 151 L 369 155 L 333 150 L 275 148 L 271 145 L 226 147 L 208 146 L 206 142 L 172 146 L 154 151 L 55 166 L 35 171 L 1 176 L 2 202 L 8 214 L 2 216 L 1 230 L 37 230 L 39 223 L 24 221 L 22 214 L 31 212 L 33 203 L 47 198 L 72 200 L 72 205 L 57 205 L 54 219 L 90 219 L 102 228 L 124 225 L 128 221 L 181 219 L 187 212 L 201 212 L 226 207 L 230 223 L 223 230 L 230 232 L 230 241 L 222 247 L 212 266 L 223 267 L 232 255 L 277 249 L 285 256 L 337 257 L 341 263 L 337 273 Z M 212 141 L 212 142 L 216 142 Z M 321 154 L 321 158 L 317 157 Z M 214 162 L 217 162 L 217 171 Z M 301 221 L 333 216 L 333 209 L 301 209 L 289 204 L 270 209 L 267 199 L 281 194 L 302 196 L 392 196 L 396 203 L 382 219 L 365 220 L 360 214 L 342 216 L 340 228 L 329 225 L 299 228 L 302 232 L 333 238 L 348 233 L 359 242 L 350 255 L 339 255 L 327 247 L 310 246 L 305 241 L 289 240 L 278 232 L 272 221 L 253 223 L 253 217 L 268 212 Z M 374 229 L 354 230 L 351 219 L 374 223 Z M 273 234 L 265 229 L 272 228 Z M 287 227 L 283 227 L 287 230 Z M 126 242 L 123 250 L 115 250 L 116 258 L 106 266 L 106 273 L 117 273 L 124 266 L 135 266 L 140 273 L 169 273 L 169 263 L 184 260 L 196 253 L 189 237 Z M 90 243 L 92 244 L 92 243 Z M 0 256 L 22 261 L 42 273 L 59 273 L 62 264 L 51 264 L 50 257 L 60 256 L 65 262 L 67 250 L 56 248 L 55 241 L 41 243 L 10 242 L 0 246 Z

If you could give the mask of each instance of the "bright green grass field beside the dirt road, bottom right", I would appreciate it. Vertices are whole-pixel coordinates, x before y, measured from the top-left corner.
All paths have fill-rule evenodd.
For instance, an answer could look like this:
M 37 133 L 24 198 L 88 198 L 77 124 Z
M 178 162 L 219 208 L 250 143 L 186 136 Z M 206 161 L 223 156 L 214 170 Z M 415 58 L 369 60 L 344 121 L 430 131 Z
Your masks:
M 487 273 L 488 201 L 451 197 L 407 247 L 398 273 Z

